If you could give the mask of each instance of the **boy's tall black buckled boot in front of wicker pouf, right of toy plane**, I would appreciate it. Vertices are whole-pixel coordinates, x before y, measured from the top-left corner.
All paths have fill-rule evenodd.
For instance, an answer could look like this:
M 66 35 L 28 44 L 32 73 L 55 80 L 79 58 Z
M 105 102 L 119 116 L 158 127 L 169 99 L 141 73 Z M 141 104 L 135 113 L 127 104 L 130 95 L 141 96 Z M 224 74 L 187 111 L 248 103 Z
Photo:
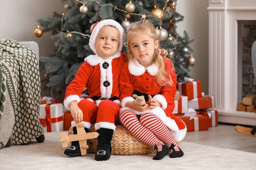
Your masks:
M 97 153 L 95 154 L 96 161 L 107 161 L 111 156 L 111 140 L 113 137 L 114 130 L 100 128 L 97 130 L 99 133 L 98 144 L 97 144 Z

